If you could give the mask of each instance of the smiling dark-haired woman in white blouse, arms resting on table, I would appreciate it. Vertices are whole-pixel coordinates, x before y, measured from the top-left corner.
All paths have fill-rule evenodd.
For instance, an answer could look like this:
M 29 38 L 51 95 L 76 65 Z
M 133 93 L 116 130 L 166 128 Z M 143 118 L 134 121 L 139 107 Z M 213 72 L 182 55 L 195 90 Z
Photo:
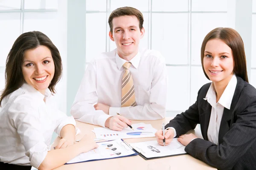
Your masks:
M 53 169 L 98 145 L 74 143 L 76 122 L 51 101 L 61 78 L 58 49 L 39 31 L 21 34 L 6 60 L 6 86 L 0 96 L 0 169 Z M 50 150 L 52 133 L 61 140 Z

